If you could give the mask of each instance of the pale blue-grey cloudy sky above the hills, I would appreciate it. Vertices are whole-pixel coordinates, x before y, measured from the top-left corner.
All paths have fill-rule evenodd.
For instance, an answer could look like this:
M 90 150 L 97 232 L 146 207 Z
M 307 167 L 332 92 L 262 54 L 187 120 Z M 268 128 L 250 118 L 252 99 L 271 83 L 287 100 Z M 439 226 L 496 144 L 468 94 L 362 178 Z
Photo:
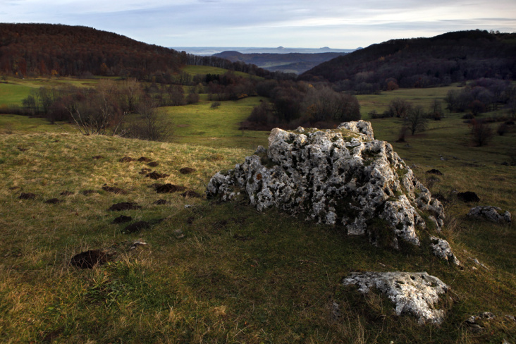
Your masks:
M 0 23 L 83 25 L 163 47 L 355 49 L 516 32 L 516 0 L 0 0 Z

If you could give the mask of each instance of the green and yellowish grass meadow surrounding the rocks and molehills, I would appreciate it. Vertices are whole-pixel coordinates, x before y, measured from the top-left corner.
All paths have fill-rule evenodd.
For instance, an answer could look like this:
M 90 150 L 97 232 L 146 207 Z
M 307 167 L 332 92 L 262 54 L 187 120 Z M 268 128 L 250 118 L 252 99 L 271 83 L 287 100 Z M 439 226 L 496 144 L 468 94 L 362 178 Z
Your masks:
M 27 90 L 39 87 L 23 82 Z M 14 89 L 11 80 L 7 85 Z M 449 89 L 360 96 L 362 117 L 383 112 L 395 97 L 426 107 Z M 16 104 L 6 94 L 0 93 L 0 106 Z M 479 204 L 516 214 L 515 166 L 504 164 L 516 159 L 514 128 L 474 147 L 462 114 L 446 113 L 396 143 L 399 118 L 371 120 L 376 138 L 391 142 L 419 180 L 446 198 L 442 236 L 460 259 L 455 267 L 422 248 L 373 247 L 302 215 L 259 213 L 243 198 L 207 199 L 214 173 L 267 145 L 269 133 L 238 129 L 259 100 L 211 109 L 203 95 L 198 104 L 161 108 L 173 128 L 171 142 L 84 136 L 68 123 L 0 115 L 0 342 L 516 343 L 516 322 L 506 317 L 516 315 L 515 227 L 467 219 L 477 204 L 455 195 L 473 191 Z M 181 173 L 185 167 L 194 171 Z M 443 175 L 426 173 L 431 168 Z M 152 180 L 149 171 L 168 176 Z M 154 183 L 201 197 L 159 194 Z M 33 199 L 20 199 L 29 192 Z M 140 208 L 109 210 L 121 202 Z M 113 223 L 120 215 L 132 220 Z M 128 233 L 137 221 L 147 227 Z M 145 244 L 135 246 L 136 240 Z M 106 250 L 110 261 L 95 269 L 71 265 L 85 250 Z M 419 326 L 395 316 L 386 298 L 343 287 L 351 271 L 426 271 L 441 278 L 451 287 L 438 305 L 448 312 L 446 321 Z M 473 331 L 466 319 L 481 312 L 496 318 Z

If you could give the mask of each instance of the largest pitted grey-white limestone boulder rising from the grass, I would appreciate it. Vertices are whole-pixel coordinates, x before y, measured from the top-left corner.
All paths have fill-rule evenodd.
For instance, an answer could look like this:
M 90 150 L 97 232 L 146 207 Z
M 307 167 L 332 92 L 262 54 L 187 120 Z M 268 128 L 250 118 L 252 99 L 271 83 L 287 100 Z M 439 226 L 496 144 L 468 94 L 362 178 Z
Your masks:
M 240 193 L 259 211 L 308 214 L 318 223 L 344 226 L 348 234 L 367 234 L 376 244 L 379 231 L 368 231 L 368 225 L 380 223 L 392 247 L 399 240 L 419 245 L 416 228 L 440 231 L 444 219 L 441 202 L 388 142 L 374 140 L 366 121 L 336 130 L 273 129 L 269 149 L 259 147 L 243 164 L 216 173 L 207 187 L 208 197 L 225 201 Z

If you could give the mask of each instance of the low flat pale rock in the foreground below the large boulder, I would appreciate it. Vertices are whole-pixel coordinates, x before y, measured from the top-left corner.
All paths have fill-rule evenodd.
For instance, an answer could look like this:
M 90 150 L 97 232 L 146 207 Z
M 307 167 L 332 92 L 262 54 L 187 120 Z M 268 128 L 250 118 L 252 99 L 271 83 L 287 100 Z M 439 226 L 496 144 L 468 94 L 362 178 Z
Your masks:
M 439 278 L 426 272 L 363 272 L 352 273 L 344 279 L 344 285 L 358 285 L 360 293 L 376 289 L 395 304 L 397 315 L 410 313 L 419 324 L 441 324 L 445 317 L 443 309 L 436 309 L 439 295 L 449 287 Z

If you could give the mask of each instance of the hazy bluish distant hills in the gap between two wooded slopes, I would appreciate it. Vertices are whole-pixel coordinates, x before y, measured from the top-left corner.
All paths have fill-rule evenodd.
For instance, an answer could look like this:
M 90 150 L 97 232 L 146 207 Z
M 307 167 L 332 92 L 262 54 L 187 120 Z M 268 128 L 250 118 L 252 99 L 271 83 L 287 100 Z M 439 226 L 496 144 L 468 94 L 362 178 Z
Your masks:
M 238 51 L 223 51 L 213 56 L 228 59 L 229 61 L 242 61 L 244 63 L 252 63 L 260 68 L 271 71 L 281 71 L 285 73 L 303 73 L 310 68 L 335 59 L 338 56 L 345 55 L 345 52 L 326 52 L 317 54 L 271 54 L 271 53 L 253 53 L 242 54 Z

